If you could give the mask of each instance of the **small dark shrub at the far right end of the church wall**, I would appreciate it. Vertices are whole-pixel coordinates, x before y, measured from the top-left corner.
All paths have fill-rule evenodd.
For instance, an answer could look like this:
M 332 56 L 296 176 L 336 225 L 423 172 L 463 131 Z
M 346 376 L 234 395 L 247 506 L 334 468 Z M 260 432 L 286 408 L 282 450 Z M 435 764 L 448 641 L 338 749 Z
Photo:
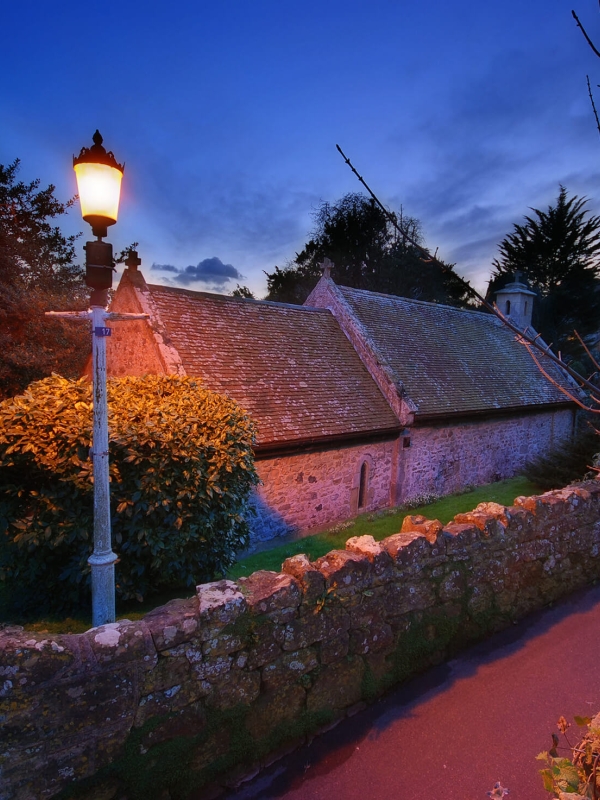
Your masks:
M 544 491 L 560 489 L 573 481 L 582 480 L 599 450 L 597 431 L 586 427 L 573 440 L 530 461 L 525 467 L 525 475 Z

